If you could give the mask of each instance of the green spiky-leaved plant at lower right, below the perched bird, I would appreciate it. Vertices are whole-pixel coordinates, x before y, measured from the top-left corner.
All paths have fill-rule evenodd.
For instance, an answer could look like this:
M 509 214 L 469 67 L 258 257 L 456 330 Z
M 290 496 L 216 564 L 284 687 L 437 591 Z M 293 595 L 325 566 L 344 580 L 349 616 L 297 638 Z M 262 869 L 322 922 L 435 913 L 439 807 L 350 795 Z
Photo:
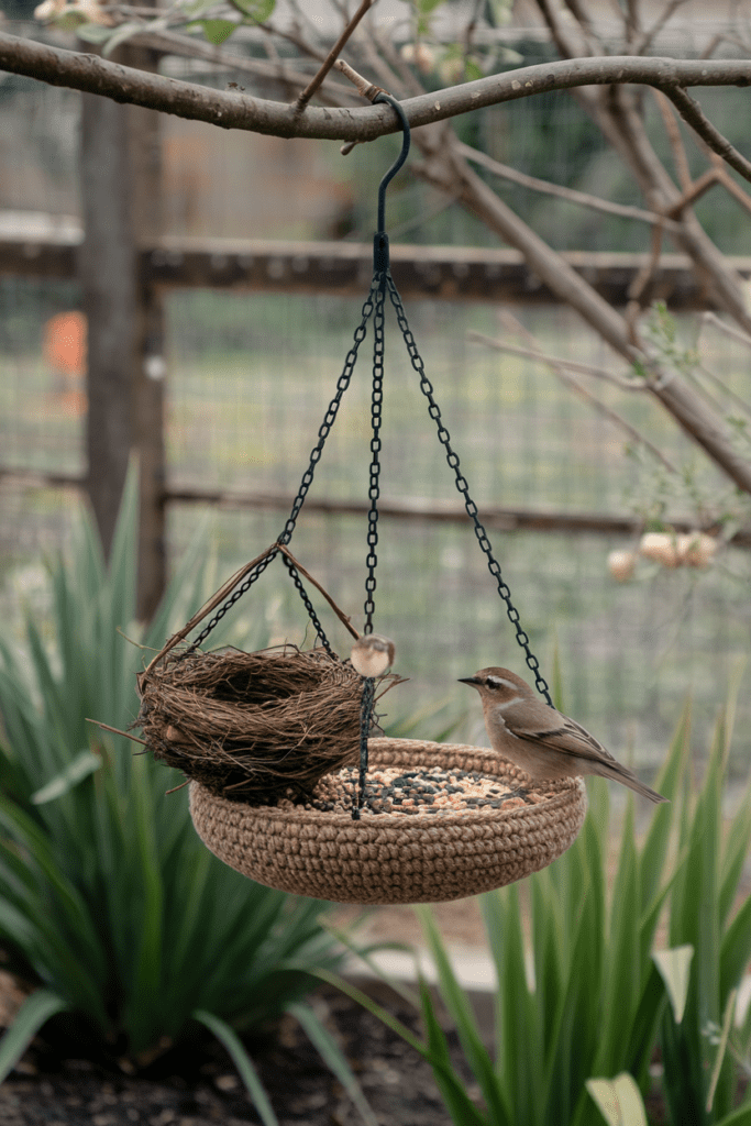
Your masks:
M 656 781 L 670 803 L 654 810 L 641 844 L 628 795 L 610 893 L 607 784 L 590 779 L 589 812 L 567 852 L 521 891 L 513 884 L 482 896 L 498 978 L 494 1051 L 483 1043 L 430 910 L 418 908 L 438 993 L 481 1106 L 458 1076 L 423 982 L 419 997 L 390 982 L 421 1011 L 421 1039 L 350 983 L 319 971 L 431 1064 L 457 1126 L 597 1126 L 602 1106 L 615 1108 L 609 1123 L 643 1126 L 642 1094 L 656 1043 L 673 1126 L 751 1126 L 751 1088 L 734 1109 L 737 1074 L 731 1065 L 733 1054 L 749 1054 L 751 1009 L 733 1037 L 727 1017 L 751 957 L 751 897 L 734 912 L 751 841 L 751 784 L 724 832 L 721 819 L 733 698 L 731 692 L 696 795 L 689 786 L 687 705 Z M 653 951 L 665 914 L 669 949 Z

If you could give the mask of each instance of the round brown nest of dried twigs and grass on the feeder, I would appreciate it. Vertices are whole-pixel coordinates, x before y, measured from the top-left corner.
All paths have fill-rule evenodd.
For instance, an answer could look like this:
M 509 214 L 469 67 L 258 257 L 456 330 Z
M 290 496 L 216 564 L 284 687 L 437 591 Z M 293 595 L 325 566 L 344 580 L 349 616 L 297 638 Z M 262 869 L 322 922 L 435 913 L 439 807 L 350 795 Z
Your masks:
M 223 797 L 298 799 L 358 759 L 363 681 L 322 649 L 172 652 L 138 687 L 154 758 Z

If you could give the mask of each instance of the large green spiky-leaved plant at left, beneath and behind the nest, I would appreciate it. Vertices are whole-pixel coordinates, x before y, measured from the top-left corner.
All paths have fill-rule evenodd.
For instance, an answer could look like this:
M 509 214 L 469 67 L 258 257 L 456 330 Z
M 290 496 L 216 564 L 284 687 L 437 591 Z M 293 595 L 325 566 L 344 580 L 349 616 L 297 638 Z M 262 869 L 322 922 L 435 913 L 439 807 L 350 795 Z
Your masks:
M 224 1044 L 274 1126 L 238 1034 L 288 1011 L 373 1123 L 304 1000 L 315 984 L 310 971 L 340 958 L 320 926 L 329 905 L 221 864 L 193 829 L 187 789 L 166 794 L 179 776 L 86 722 L 125 730 L 137 709 L 142 655 L 118 633 L 137 631 L 136 513 L 131 473 L 109 565 L 83 517 L 71 564 L 48 566 L 44 627 L 27 613 L 24 645 L 0 636 L 0 945 L 35 986 L 0 1042 L 0 1079 L 51 1018 L 74 1017 L 129 1067 L 197 1021 Z M 205 555 L 205 540 L 187 553 L 141 638 L 146 650 L 159 650 L 203 601 Z

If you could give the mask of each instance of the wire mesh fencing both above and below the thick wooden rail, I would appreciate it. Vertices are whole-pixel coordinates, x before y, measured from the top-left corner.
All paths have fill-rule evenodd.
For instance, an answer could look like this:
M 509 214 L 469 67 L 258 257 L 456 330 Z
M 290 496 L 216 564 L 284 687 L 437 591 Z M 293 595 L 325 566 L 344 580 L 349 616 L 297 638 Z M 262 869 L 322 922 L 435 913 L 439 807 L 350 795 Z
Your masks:
M 186 71 L 182 77 L 190 75 Z M 735 95 L 723 92 L 726 116 L 742 128 L 742 115 L 733 110 Z M 79 214 L 78 107 L 75 93 L 3 77 L 0 211 Z M 18 127 L 21 119 L 24 128 Z M 175 129 L 178 126 L 170 123 Z M 598 161 L 584 126 L 581 111 L 565 95 L 520 104 L 513 113 L 501 107 L 467 124 L 484 135 L 486 148 L 499 160 L 531 175 L 545 171 L 552 179 L 582 189 L 597 180 L 598 190 L 607 188 L 613 198 L 638 202 L 625 181 L 616 182 L 615 172 L 604 184 L 610 166 Z M 178 129 L 167 138 L 171 233 L 369 236 L 374 185 L 388 164 L 392 140 L 358 146 L 346 163 L 338 146 L 328 143 L 325 150 L 324 143 L 311 164 L 296 163 L 297 158 L 288 155 L 289 142 L 279 142 L 278 151 L 270 145 L 253 155 L 249 137 L 214 131 L 209 144 L 207 131 L 208 126 L 200 126 L 188 135 Z M 734 135 L 733 128 L 725 127 L 725 132 Z M 253 140 L 270 144 L 272 138 Z M 587 157 L 576 166 L 580 172 L 573 171 L 575 152 Z M 221 181 L 226 188 L 221 206 L 214 189 L 211 198 L 206 195 L 196 171 L 207 162 L 214 187 Z M 239 184 L 247 186 L 249 166 L 263 162 L 277 177 L 271 218 L 268 208 L 253 203 L 261 197 L 268 203 L 268 191 L 236 190 Z M 289 194 L 293 184 L 301 199 L 315 198 L 325 206 L 316 204 L 303 212 L 295 204 L 297 196 L 293 199 Z M 517 188 L 504 193 L 528 220 L 543 223 L 543 233 L 556 245 L 646 247 L 646 229 L 629 241 L 619 221 L 602 216 L 584 221 L 580 215 L 574 223 L 570 204 L 540 203 Z M 488 240 L 486 231 L 444 203 L 429 189 L 412 185 L 390 200 L 390 223 L 397 236 L 411 241 Z M 724 249 L 742 250 L 746 234 L 739 233 L 730 205 L 708 200 L 706 207 L 721 245 L 727 236 Z M 395 280 L 399 285 L 397 274 Z M 83 373 L 74 363 L 55 364 L 45 349 L 45 325 L 79 306 L 74 283 L 0 276 L 3 471 L 78 475 L 86 471 Z M 168 301 L 168 484 L 290 500 L 350 347 L 360 306 L 361 298 L 172 293 Z M 467 340 L 470 331 L 501 334 L 492 307 L 414 302 L 406 312 L 471 493 L 481 507 L 631 513 L 634 509 L 644 512 L 659 498 L 664 474 L 658 463 L 647 457 L 646 471 L 640 470 L 638 459 L 625 456 L 624 434 L 574 399 L 548 368 L 521 356 L 500 356 Z M 613 365 L 605 347 L 563 311 L 529 307 L 516 312 L 544 351 Z M 690 345 L 699 320 L 685 319 L 679 328 Z M 311 499 L 366 499 L 370 339 L 363 346 Z M 707 365 L 721 372 L 737 394 L 745 394 L 748 363 L 742 346 L 705 333 L 703 350 Z M 624 402 L 613 388 L 598 390 L 686 470 L 691 488 L 706 495 L 726 490 L 654 404 L 640 396 Z M 391 316 L 383 418 L 384 499 L 452 501 L 461 513 L 461 498 Z M 685 515 L 680 506 L 688 492 L 668 497 L 673 504 L 670 515 Z M 0 477 L 0 600 L 7 620 L 14 624 L 9 628 L 18 628 L 20 605 L 39 595 L 39 561 L 45 552 L 65 546 L 75 510 L 71 492 L 23 488 L 8 476 Z M 276 538 L 286 515 L 284 503 L 262 509 L 212 508 L 206 535 L 207 551 L 215 558 L 216 586 Z M 198 502 L 170 507 L 172 563 L 206 516 L 207 506 Z M 292 543 L 295 554 L 352 614 L 356 625 L 361 625 L 365 600 L 365 536 L 364 515 L 327 516 L 303 509 Z M 746 553 L 727 548 L 707 572 L 643 566 L 631 583 L 616 584 L 607 571 L 607 555 L 614 547 L 633 546 L 623 538 L 494 529 L 491 540 L 543 671 L 549 671 L 557 650 L 566 707 L 609 741 L 614 751 L 627 757 L 633 748 L 637 762 L 659 761 L 687 692 L 694 694 L 700 726 L 706 730 L 724 697 L 733 663 L 749 647 Z M 393 694 L 392 716 L 421 708 L 427 715 L 444 715 L 440 708 L 446 704 L 445 715 L 461 720 L 457 734 L 484 741 L 476 701 L 466 700 L 465 690 L 455 685 L 456 677 L 485 664 L 508 663 L 519 671 L 524 664 L 468 521 L 384 518 L 377 551 L 376 628 L 393 636 L 399 670 L 411 678 L 400 690 L 401 699 Z M 275 638 L 301 641 L 306 618 L 285 577 L 280 569 L 270 571 L 233 613 L 251 625 L 262 623 Z M 333 636 L 346 651 L 347 638 L 337 629 Z M 742 720 L 748 721 L 749 709 L 743 699 Z M 426 718 L 426 734 L 437 722 L 436 715 Z M 751 751 L 748 731 L 748 722 L 739 723 L 743 761 Z

